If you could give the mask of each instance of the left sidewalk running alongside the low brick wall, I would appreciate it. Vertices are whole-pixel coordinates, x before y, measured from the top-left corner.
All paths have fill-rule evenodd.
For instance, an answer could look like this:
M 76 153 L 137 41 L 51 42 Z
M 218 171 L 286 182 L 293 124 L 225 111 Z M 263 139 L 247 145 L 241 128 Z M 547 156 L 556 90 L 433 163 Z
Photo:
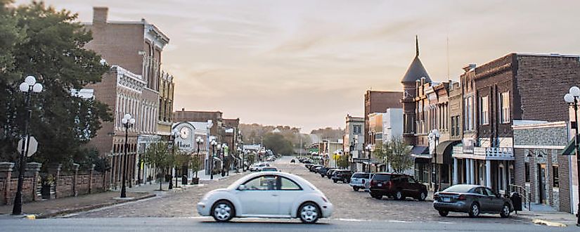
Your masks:
M 167 191 L 168 183 L 163 183 L 163 190 Z M 181 187 L 181 184 L 179 185 Z M 187 188 L 187 187 L 186 187 Z M 72 214 L 94 210 L 96 208 L 117 205 L 123 202 L 153 198 L 156 195 L 183 191 L 183 188 L 174 188 L 171 191 L 158 191 L 159 183 L 143 184 L 127 188 L 127 198 L 120 199 L 120 191 L 106 191 L 103 193 L 94 193 L 78 195 L 76 197 L 56 198 L 51 200 L 39 200 L 34 202 L 25 202 L 22 205 L 22 211 L 25 215 L 35 215 L 36 218 L 56 217 L 63 214 Z M 0 219 L 13 219 L 22 216 L 11 215 L 13 205 L 0 206 Z

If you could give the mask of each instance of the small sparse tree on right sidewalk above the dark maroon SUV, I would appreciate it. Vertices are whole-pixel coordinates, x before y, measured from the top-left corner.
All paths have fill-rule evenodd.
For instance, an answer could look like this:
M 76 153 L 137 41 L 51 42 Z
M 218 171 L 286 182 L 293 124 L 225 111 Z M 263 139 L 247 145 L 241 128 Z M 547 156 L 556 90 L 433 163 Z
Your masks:
M 387 147 L 387 161 L 388 166 L 393 169 L 393 172 L 401 173 L 406 169 L 413 167 L 413 157 L 411 157 L 411 147 L 409 147 L 401 136 L 393 137 Z

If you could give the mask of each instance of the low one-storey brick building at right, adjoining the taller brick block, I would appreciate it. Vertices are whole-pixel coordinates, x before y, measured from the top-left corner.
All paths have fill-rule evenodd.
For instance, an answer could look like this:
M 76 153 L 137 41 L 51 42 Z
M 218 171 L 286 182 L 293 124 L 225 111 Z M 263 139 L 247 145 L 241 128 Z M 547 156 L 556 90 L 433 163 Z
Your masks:
M 531 202 L 573 212 L 570 172 L 576 157 L 562 155 L 570 131 L 567 122 L 515 121 L 513 126 L 515 175 L 510 181 L 523 186 Z M 523 172 L 522 172 L 523 171 Z M 535 206 L 531 207 L 534 210 Z

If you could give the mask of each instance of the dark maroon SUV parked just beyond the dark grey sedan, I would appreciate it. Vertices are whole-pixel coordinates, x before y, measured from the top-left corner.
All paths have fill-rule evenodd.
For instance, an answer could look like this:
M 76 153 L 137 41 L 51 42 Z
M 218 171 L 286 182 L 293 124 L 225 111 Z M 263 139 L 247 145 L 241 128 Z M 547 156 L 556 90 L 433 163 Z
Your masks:
M 377 199 L 382 199 L 383 195 L 395 200 L 409 197 L 423 201 L 427 198 L 427 186 L 407 174 L 378 172 L 370 180 L 369 190 L 370 196 Z

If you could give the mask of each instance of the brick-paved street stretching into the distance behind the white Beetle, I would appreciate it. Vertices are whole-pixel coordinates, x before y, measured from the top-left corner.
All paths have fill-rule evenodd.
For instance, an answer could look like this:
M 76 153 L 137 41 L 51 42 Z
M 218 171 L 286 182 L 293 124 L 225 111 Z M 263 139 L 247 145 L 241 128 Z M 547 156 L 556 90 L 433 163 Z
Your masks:
M 439 217 L 432 203 L 417 200 L 397 201 L 383 198 L 376 200 L 366 192 L 354 192 L 347 183 L 333 183 L 318 174 L 309 172 L 304 165 L 290 164 L 289 157 L 277 160 L 273 165 L 283 172 L 290 172 L 304 177 L 329 198 L 335 205 L 335 212 L 330 219 L 361 219 L 373 221 L 439 221 L 439 222 L 476 222 L 476 223 L 523 223 L 527 220 L 517 216 L 502 219 L 496 214 L 484 214 L 472 219 L 467 214 L 451 213 L 449 217 Z M 232 174 L 232 173 L 231 173 Z M 138 202 L 131 202 L 103 210 L 94 210 L 69 217 L 199 217 L 195 204 L 202 196 L 215 188 L 224 188 L 239 179 L 242 175 L 232 175 L 228 179 L 210 181 L 203 186 L 192 186 L 185 191 L 162 194 L 159 197 Z M 430 195 L 431 197 L 431 195 Z

